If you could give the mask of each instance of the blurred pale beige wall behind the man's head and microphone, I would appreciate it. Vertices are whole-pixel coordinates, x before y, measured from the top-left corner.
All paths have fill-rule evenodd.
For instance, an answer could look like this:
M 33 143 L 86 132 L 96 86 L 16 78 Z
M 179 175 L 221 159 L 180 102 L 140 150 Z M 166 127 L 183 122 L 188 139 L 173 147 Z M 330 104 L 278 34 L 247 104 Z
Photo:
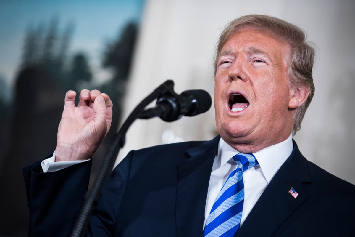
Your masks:
M 166 79 L 175 81 L 177 93 L 201 88 L 212 96 L 214 47 L 225 24 L 246 14 L 279 17 L 304 28 L 318 48 L 315 97 L 294 139 L 308 160 L 355 184 L 355 3 L 339 2 L 147 1 L 124 117 Z M 132 149 L 168 141 L 206 140 L 215 133 L 213 108 L 173 123 L 159 118 L 138 120 L 129 130 L 118 160 Z

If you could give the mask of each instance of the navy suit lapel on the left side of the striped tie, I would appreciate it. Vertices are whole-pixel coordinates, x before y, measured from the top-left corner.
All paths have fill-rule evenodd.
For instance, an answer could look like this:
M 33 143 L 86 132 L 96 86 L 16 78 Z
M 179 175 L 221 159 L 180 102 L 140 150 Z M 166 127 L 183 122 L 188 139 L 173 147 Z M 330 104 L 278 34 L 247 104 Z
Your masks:
M 179 237 L 202 236 L 209 178 L 220 136 L 186 153 L 178 164 L 176 186 L 176 232 Z

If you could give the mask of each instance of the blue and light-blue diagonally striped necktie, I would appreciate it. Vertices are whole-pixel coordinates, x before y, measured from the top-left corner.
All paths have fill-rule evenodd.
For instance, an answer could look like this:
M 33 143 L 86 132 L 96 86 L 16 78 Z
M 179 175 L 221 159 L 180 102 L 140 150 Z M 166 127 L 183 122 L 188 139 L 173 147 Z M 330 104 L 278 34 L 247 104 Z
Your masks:
M 233 156 L 237 168 L 219 191 L 204 227 L 204 237 L 234 236 L 240 226 L 244 203 L 243 171 L 258 164 L 251 153 Z

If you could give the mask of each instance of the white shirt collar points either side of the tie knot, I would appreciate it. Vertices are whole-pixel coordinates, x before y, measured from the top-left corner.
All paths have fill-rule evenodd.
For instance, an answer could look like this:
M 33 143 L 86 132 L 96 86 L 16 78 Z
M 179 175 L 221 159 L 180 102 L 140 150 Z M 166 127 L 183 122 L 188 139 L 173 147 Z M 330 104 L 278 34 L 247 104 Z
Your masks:
M 291 155 L 293 150 L 292 134 L 278 144 L 266 147 L 258 152 L 253 153 L 267 182 L 270 182 L 275 173 L 279 170 L 286 159 Z M 228 145 L 222 138 L 218 144 L 217 159 L 213 164 L 213 170 L 218 169 L 227 163 L 231 157 L 240 153 Z

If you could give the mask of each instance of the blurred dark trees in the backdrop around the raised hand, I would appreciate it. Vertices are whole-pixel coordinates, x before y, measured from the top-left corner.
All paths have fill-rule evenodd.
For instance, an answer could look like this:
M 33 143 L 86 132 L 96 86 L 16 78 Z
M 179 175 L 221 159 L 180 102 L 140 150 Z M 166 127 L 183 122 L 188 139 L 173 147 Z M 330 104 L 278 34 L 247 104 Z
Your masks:
M 80 93 L 82 84 L 92 89 L 94 74 L 87 55 L 80 52 L 68 56 L 72 33 L 73 24 L 60 30 L 58 18 L 26 29 L 15 80 L 15 101 L 11 106 L 0 103 L 0 109 L 10 111 L 7 117 L 0 115 L 0 124 L 7 123 L 0 136 L 5 141 L 0 145 L 0 185 L 7 190 L 0 195 L 0 235 L 26 236 L 28 209 L 22 167 L 55 149 L 65 92 Z M 136 35 L 136 24 L 128 23 L 119 37 L 105 47 L 102 66 L 111 69 L 113 77 L 95 87 L 110 95 L 114 115 L 110 133 L 94 155 L 91 180 L 120 120 Z M 0 87 L 2 81 L 0 78 Z

